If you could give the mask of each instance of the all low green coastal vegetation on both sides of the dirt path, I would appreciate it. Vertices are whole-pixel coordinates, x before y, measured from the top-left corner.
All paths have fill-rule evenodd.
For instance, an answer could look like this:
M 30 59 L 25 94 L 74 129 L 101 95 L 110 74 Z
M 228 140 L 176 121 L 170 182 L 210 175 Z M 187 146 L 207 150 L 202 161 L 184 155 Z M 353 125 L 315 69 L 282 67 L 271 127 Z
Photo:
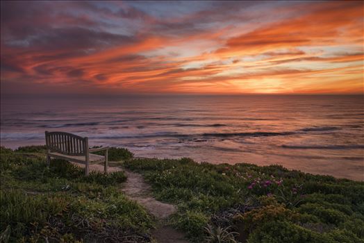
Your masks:
M 63 160 L 47 168 L 42 146 L 0 151 L 3 242 L 152 241 L 155 220 L 121 192 L 123 172 L 85 177 Z M 112 165 L 141 173 L 156 199 L 178 207 L 168 224 L 192 242 L 364 242 L 363 182 L 110 153 L 120 161 Z

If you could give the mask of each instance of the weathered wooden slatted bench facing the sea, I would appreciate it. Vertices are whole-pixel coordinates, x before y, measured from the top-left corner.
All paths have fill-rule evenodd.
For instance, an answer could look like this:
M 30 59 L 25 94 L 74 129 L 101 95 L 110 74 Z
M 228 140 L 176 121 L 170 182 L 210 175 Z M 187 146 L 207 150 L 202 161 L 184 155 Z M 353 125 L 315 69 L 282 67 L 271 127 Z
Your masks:
M 90 163 L 105 162 L 104 171 L 108 172 L 108 147 L 90 149 L 88 137 L 80 137 L 72 133 L 45 132 L 47 145 L 47 165 L 51 157 L 60 158 L 85 165 L 85 175 L 88 176 Z M 92 152 L 105 151 L 105 156 L 99 156 Z

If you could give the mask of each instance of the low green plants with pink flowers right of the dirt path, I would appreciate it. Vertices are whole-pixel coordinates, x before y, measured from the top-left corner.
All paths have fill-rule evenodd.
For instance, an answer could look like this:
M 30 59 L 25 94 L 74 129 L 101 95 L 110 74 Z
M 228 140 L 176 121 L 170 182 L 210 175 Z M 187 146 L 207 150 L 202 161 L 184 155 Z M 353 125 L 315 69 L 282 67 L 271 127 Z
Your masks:
M 158 200 L 178 205 L 171 224 L 195 242 L 364 242 L 363 182 L 188 158 L 124 165 L 144 174 Z

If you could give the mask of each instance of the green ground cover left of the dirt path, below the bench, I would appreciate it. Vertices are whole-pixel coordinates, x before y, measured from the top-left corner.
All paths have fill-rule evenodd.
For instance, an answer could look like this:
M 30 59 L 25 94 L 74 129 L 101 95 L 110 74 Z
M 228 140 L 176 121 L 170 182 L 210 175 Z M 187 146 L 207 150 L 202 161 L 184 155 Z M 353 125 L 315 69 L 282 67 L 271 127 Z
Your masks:
M 150 242 L 152 217 L 120 192 L 123 172 L 91 173 L 44 150 L 1 147 L 1 242 Z M 6 240 L 8 239 L 8 240 Z

